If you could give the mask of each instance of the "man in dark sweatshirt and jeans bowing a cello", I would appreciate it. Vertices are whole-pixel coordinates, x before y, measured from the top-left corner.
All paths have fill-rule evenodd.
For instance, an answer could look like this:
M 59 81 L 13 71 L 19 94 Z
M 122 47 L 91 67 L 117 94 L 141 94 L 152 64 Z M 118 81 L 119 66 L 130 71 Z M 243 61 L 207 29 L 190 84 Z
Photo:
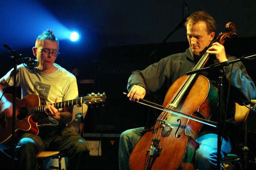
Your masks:
M 166 84 L 169 88 L 176 80 L 186 75 L 187 71 L 192 70 L 205 53 L 210 55 L 206 66 L 236 59 L 226 55 L 225 48 L 221 43 L 212 43 L 216 34 L 216 21 L 208 13 L 199 11 L 191 14 L 187 18 L 185 26 L 189 48 L 184 53 L 168 56 L 143 70 L 132 72 L 127 85 L 129 91 L 127 97 L 131 101 L 139 101 L 146 94 L 155 93 Z M 227 109 L 225 132 L 222 136 L 221 145 L 222 157 L 230 153 L 232 145 L 236 142 L 239 134 L 236 130 L 242 127 L 242 123 L 234 121 L 235 102 L 242 105 L 244 101 L 256 98 L 255 85 L 248 76 L 242 62 L 225 66 L 225 71 L 224 103 Z M 219 75 L 216 72 L 203 72 L 202 75 L 212 85 L 217 86 Z M 229 86 L 230 92 L 227 93 Z M 217 122 L 217 116 L 218 109 L 212 114 L 211 120 Z M 145 128 L 142 127 L 126 130 L 121 134 L 119 143 L 119 167 L 121 170 L 130 169 L 129 157 L 136 143 L 144 133 Z M 199 147 L 195 153 L 195 161 L 193 162 L 195 169 L 217 169 L 217 128 L 203 125 L 195 140 L 199 143 Z M 179 150 L 178 145 L 174 147 Z M 172 161 L 172 158 L 168 161 Z M 166 169 L 168 168 L 171 167 L 166 167 Z

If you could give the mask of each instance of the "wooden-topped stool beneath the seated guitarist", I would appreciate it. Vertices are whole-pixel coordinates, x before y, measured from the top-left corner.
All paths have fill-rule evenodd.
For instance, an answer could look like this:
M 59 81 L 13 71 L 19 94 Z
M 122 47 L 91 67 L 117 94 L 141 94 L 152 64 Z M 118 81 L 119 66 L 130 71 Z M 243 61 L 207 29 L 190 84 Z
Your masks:
M 57 158 L 58 159 L 58 162 L 59 162 L 59 167 L 58 169 L 61 170 L 61 155 L 59 154 L 59 151 L 42 151 L 42 152 L 39 152 L 36 157 L 38 159 L 43 159 L 42 163 L 38 163 L 38 169 L 41 168 L 41 166 L 44 164 L 45 160 L 47 158 Z M 42 168 L 41 168 L 42 169 Z

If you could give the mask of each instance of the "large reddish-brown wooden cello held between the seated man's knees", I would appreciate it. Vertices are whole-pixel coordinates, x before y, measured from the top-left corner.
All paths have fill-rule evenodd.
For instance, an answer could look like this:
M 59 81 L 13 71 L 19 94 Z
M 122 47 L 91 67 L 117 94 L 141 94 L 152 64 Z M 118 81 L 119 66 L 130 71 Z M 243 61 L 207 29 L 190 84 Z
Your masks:
M 225 28 L 229 32 L 220 33 L 214 42 L 223 44 L 236 35 L 233 22 Z M 203 68 L 208 58 L 205 53 L 193 70 Z M 156 124 L 143 134 L 131 153 L 132 170 L 194 169 L 192 160 L 199 147 L 196 138 L 204 124 L 199 120 L 210 122 L 218 107 L 218 89 L 202 75 L 183 76 L 169 87 L 162 106 Z

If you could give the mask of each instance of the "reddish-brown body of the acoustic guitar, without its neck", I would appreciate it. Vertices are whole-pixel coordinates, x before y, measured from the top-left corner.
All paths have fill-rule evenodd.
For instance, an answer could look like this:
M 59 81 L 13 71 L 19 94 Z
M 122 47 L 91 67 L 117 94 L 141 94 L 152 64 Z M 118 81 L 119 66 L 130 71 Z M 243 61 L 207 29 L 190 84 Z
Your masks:
M 12 103 L 11 94 L 4 94 L 6 99 Z M 28 108 L 40 106 L 40 98 L 36 94 L 29 94 L 24 99 L 16 98 L 16 118 L 15 118 L 15 135 L 18 130 L 29 131 L 35 135 L 38 134 L 37 120 L 40 114 L 30 115 Z M 9 141 L 12 136 L 12 118 L 7 119 L 4 116 L 0 121 L 0 149 L 8 149 Z

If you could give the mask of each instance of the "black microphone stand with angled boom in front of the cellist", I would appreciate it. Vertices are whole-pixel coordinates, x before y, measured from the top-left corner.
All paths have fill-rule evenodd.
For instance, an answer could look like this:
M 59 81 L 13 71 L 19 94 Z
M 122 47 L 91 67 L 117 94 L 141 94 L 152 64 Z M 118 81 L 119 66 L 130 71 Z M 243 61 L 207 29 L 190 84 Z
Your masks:
M 202 72 L 202 71 L 208 71 L 208 70 L 212 70 L 212 69 L 217 69 L 219 68 L 220 70 L 223 70 L 224 69 L 224 66 L 227 66 L 231 63 L 236 63 L 236 62 L 239 62 L 241 61 L 241 59 L 245 59 L 245 58 L 253 58 L 255 57 L 255 55 L 251 55 L 251 56 L 247 56 L 247 57 L 244 57 L 244 58 L 239 58 L 239 59 L 236 59 L 236 60 L 233 60 L 233 61 L 225 61 L 225 62 L 221 62 L 221 63 L 216 63 L 216 64 L 212 64 L 210 65 L 209 67 L 204 67 L 204 68 L 200 68 L 200 69 L 196 69 L 196 70 L 192 70 L 192 71 L 188 71 L 186 72 L 186 75 L 193 75 L 193 74 L 197 74 L 199 72 Z M 223 71 L 224 73 L 224 71 Z M 217 168 L 218 169 L 221 169 L 221 160 L 222 160 L 222 156 L 221 156 L 221 137 L 222 137 L 222 134 L 223 134 L 223 125 L 225 125 L 225 109 L 224 109 L 224 106 L 223 106 L 223 75 L 220 75 L 219 76 L 219 81 L 218 81 L 218 94 L 219 94 L 219 107 L 218 107 L 218 148 L 217 148 Z

